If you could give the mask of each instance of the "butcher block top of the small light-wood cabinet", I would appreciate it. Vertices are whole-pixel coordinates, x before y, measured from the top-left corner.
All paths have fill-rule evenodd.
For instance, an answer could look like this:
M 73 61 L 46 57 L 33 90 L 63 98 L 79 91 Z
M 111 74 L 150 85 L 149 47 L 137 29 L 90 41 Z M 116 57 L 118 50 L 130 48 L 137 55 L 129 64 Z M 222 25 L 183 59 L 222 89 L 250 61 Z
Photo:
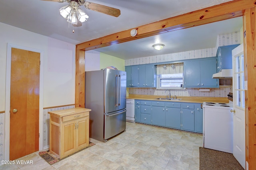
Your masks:
M 84 113 L 92 111 L 91 109 L 86 109 L 82 107 L 75 107 L 72 109 L 63 109 L 63 110 L 55 110 L 55 111 L 48 111 L 49 114 L 55 115 L 56 117 L 63 117 L 67 115 L 74 115 L 78 113 Z

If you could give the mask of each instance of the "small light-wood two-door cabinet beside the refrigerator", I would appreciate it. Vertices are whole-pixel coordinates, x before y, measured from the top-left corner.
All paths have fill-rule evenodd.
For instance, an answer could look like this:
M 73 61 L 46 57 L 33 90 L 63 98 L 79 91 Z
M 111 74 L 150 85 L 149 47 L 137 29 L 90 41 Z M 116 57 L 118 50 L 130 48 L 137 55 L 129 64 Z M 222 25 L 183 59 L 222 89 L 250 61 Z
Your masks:
M 49 111 L 50 152 L 64 158 L 89 145 L 89 112 L 76 107 Z

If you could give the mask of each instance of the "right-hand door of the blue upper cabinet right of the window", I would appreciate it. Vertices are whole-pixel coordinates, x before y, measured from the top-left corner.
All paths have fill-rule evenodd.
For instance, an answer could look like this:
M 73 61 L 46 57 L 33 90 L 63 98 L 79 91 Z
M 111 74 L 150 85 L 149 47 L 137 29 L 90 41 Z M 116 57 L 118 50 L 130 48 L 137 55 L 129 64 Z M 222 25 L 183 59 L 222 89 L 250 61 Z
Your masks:
M 212 78 L 212 74 L 216 72 L 216 59 L 200 61 L 200 86 L 217 87 L 219 79 Z

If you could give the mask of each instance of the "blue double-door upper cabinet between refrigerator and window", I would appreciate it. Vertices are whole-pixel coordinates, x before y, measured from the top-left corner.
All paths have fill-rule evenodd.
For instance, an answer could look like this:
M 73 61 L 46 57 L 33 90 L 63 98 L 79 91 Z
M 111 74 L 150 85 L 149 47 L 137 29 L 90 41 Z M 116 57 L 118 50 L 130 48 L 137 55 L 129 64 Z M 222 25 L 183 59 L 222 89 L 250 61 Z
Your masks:
M 126 66 L 127 87 L 156 87 L 156 66 L 142 64 Z

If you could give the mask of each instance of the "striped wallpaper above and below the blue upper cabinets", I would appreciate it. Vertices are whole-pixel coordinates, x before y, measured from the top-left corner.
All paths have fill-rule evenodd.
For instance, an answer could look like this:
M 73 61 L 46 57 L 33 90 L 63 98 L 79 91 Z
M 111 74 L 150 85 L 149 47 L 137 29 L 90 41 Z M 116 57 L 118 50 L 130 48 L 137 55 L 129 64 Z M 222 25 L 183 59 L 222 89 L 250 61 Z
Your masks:
M 215 48 L 128 59 L 125 60 L 125 66 L 214 57 L 216 56 L 219 46 L 239 44 L 240 42 L 240 31 L 235 31 L 232 33 L 218 35 Z M 156 88 L 129 88 L 129 94 L 164 96 L 166 95 L 164 91 L 165 90 L 158 90 Z M 210 92 L 199 92 L 198 88 L 187 88 L 186 90 L 171 90 L 171 92 L 172 95 L 176 96 L 226 97 L 229 92 L 232 92 L 232 87 L 222 86 L 220 88 L 211 88 Z

